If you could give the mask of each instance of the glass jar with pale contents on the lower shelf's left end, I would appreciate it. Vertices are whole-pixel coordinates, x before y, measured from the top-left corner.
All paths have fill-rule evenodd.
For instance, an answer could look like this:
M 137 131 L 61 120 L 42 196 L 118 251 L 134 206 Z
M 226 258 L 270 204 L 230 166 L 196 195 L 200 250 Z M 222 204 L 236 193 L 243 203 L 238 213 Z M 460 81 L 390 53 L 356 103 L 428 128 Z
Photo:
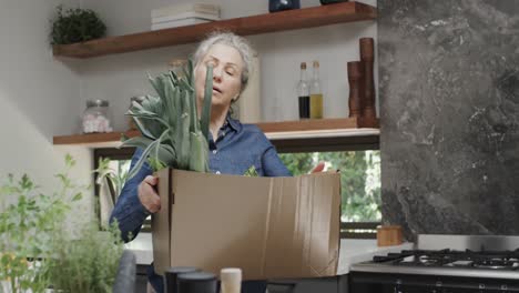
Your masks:
M 83 133 L 111 132 L 109 102 L 105 100 L 86 101 L 83 112 Z

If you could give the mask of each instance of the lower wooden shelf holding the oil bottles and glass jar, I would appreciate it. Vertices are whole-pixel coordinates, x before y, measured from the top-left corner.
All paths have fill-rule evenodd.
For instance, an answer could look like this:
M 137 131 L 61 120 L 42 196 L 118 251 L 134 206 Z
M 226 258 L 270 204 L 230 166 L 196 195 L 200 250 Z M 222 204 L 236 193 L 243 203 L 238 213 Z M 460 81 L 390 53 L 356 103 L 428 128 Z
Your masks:
M 355 137 L 378 138 L 378 119 L 340 118 L 257 123 L 271 140 L 312 140 Z M 53 138 L 55 145 L 116 146 L 121 134 L 133 138 L 139 131 L 89 133 Z M 378 141 L 378 140 L 377 140 Z

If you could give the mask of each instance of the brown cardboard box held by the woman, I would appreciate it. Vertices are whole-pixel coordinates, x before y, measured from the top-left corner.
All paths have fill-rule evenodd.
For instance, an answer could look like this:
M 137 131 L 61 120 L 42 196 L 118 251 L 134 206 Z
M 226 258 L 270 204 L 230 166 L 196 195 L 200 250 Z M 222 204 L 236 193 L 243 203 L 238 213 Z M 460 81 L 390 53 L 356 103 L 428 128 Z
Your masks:
M 247 178 L 159 172 L 161 211 L 152 218 L 157 273 L 195 266 L 244 280 L 336 275 L 340 176 Z

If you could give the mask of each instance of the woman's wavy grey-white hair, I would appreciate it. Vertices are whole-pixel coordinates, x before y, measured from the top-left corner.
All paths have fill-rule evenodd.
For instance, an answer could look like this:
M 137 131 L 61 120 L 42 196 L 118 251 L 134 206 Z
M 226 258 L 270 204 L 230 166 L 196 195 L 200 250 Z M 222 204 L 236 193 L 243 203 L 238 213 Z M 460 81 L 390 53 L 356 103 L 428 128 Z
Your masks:
M 203 40 L 193 55 L 193 62 L 195 68 L 202 62 L 204 57 L 207 54 L 208 50 L 217 44 L 226 44 L 234 49 L 236 49 L 240 54 L 242 55 L 243 60 L 243 68 L 242 68 L 242 89 L 241 91 L 247 87 L 248 83 L 248 75 L 253 71 L 253 55 L 254 51 L 250 44 L 250 42 L 237 34 L 232 32 L 213 32 L 211 33 L 205 40 Z

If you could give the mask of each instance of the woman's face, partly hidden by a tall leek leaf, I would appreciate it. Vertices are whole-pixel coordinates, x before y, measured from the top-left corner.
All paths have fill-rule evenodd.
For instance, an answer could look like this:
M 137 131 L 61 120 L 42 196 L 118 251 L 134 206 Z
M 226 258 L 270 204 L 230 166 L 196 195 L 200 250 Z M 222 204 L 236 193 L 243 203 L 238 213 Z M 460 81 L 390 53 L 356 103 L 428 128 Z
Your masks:
M 214 44 L 195 69 L 195 90 L 199 104 L 204 98 L 205 73 L 213 65 L 213 107 L 228 107 L 242 89 L 243 60 L 240 52 L 226 44 Z

